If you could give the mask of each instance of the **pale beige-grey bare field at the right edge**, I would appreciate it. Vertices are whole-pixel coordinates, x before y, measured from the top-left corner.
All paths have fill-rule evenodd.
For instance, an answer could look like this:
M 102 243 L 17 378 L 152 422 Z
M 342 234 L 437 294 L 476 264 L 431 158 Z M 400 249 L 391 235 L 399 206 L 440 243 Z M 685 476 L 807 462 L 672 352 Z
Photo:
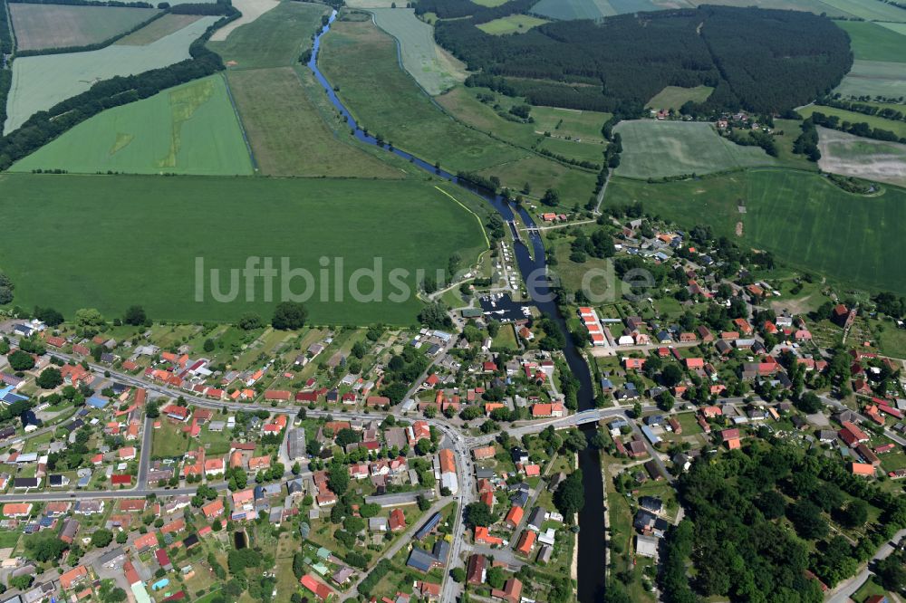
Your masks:
M 818 148 L 825 172 L 906 187 L 906 145 L 818 128 Z

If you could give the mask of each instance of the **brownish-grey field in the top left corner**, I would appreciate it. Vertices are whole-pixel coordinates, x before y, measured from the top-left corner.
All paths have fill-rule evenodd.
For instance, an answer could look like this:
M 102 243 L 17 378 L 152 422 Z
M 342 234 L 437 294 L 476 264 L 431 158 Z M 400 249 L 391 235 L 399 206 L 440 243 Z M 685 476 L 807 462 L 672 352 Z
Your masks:
M 159 14 L 155 8 L 123 6 L 9 5 L 16 49 L 89 46 L 106 42 Z

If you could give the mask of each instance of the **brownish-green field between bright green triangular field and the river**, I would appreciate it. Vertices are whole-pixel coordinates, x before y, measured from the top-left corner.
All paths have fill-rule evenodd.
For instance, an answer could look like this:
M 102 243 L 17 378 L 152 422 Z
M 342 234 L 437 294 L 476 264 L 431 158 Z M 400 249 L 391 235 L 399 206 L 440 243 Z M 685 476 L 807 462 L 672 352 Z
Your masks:
M 270 176 L 399 178 L 399 170 L 338 139 L 309 100 L 293 67 L 227 73 L 255 162 Z M 262 94 L 261 91 L 267 91 Z

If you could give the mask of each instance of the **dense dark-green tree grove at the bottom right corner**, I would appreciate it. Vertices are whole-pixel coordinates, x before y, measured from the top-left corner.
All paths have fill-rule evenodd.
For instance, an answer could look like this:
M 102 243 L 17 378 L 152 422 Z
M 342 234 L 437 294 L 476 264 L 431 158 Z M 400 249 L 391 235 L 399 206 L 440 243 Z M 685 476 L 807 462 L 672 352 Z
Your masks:
M 835 458 L 773 444 L 753 441 L 719 461 L 699 459 L 679 478 L 688 519 L 668 535 L 660 580 L 670 601 L 697 600 L 698 593 L 818 603 L 823 593 L 814 577 L 834 588 L 906 525 L 901 497 L 848 474 Z M 876 523 L 870 506 L 881 511 Z M 856 544 L 832 524 L 851 531 Z

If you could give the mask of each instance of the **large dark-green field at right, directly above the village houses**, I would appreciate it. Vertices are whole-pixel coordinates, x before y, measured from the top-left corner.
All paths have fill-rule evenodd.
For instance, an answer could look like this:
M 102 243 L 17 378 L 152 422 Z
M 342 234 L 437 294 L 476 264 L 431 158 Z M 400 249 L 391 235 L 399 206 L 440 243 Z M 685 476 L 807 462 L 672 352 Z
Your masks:
M 859 287 L 906 293 L 901 188 L 858 196 L 819 175 L 779 168 L 656 185 L 612 178 L 608 205 L 636 201 L 652 215 L 686 228 L 711 225 L 716 234 L 770 251 L 795 267 Z M 740 204 L 746 213 L 739 213 Z

